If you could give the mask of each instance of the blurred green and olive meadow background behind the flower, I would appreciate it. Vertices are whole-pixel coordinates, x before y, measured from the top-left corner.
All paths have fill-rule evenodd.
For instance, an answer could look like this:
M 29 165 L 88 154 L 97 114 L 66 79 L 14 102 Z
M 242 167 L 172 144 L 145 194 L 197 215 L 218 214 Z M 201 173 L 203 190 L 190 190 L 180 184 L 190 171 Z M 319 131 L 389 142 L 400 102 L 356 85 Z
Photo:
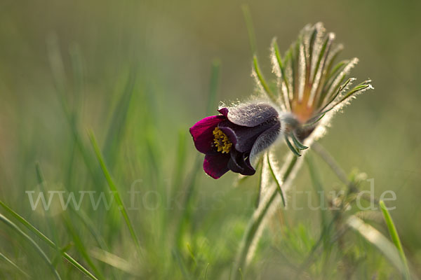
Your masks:
M 136 200 L 140 209 L 129 211 L 147 255 L 137 275 L 183 279 L 180 267 L 185 267 L 194 279 L 206 274 L 208 279 L 228 279 L 253 212 L 257 179 L 234 188 L 235 174 L 214 181 L 199 172 L 194 206 L 182 226 L 178 221 L 185 214 L 177 205 L 188 188 L 197 155 L 187 130 L 205 116 L 213 59 L 221 62 L 218 100 L 246 99 L 254 90 L 243 3 L 250 7 L 260 64 L 268 78 L 273 78 L 272 38 L 276 36 L 280 49 L 286 50 L 307 23 L 321 21 L 327 31 L 335 32 L 335 41 L 345 45 L 340 59 L 359 57 L 352 76 L 360 81 L 371 78 L 375 90 L 338 114 L 321 143 L 347 173 L 358 169 L 375 179 L 377 197 L 394 190 L 397 200 L 389 204 L 396 209 L 391 214 L 408 259 L 421 274 L 420 1 L 1 0 L 1 200 L 48 237 L 57 237 L 60 246 L 70 244 L 69 254 L 88 263 L 81 251 L 86 248 L 89 255 L 98 244 L 79 216 L 71 211 L 32 211 L 25 191 L 41 190 L 35 162 L 40 163 L 50 190 L 107 190 L 86 132 L 92 129 L 126 206 L 131 203 L 126 192 L 133 182 L 142 192 Z M 59 52 L 63 75 L 60 64 L 51 68 Z M 338 179 L 315 159 L 323 186 L 336 188 Z M 312 190 L 306 168 L 294 188 Z M 161 197 L 145 198 L 148 190 L 159 190 Z M 302 235 L 314 240 L 319 214 L 302 206 L 305 209 L 300 211 L 283 211 L 283 220 L 287 230 L 307 232 Z M 85 200 L 81 209 L 109 251 L 135 262 L 133 241 L 116 207 L 92 211 Z M 182 237 L 177 228 L 182 228 Z M 283 228 L 269 227 L 250 279 L 270 279 L 280 272 L 288 279 L 293 266 L 288 268 L 279 256 L 288 255 L 279 241 Z M 51 276 L 33 249 L 6 225 L 0 226 L 0 235 L 0 252 L 35 279 Z M 75 236 L 82 247 L 75 244 Z M 172 249 L 175 239 L 179 253 Z M 373 249 L 372 254 L 370 260 L 382 264 L 366 264 L 368 274 L 356 274 L 356 279 L 392 269 L 380 253 Z M 91 259 L 105 279 L 131 275 Z M 65 279 L 82 277 L 65 262 L 58 267 Z M 0 262 L 0 271 L 0 278 L 18 275 L 14 279 L 19 279 L 20 274 L 5 262 Z M 309 273 L 311 278 L 323 279 L 317 269 Z M 382 278 L 380 272 L 376 275 Z

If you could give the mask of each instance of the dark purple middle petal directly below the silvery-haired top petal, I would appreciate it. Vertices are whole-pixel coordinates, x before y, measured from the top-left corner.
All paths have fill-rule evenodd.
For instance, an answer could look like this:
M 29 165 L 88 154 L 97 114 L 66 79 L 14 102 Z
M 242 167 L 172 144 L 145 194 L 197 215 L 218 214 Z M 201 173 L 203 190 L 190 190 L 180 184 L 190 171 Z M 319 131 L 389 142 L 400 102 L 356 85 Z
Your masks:
M 260 134 L 269 130 L 277 123 L 279 123 L 278 119 L 270 119 L 255 127 L 244 127 L 235 125 L 234 123 L 229 122 L 229 120 L 224 120 L 218 124 L 218 127 L 222 130 L 222 132 L 227 134 L 227 137 L 232 142 L 236 150 L 244 153 L 251 150 Z

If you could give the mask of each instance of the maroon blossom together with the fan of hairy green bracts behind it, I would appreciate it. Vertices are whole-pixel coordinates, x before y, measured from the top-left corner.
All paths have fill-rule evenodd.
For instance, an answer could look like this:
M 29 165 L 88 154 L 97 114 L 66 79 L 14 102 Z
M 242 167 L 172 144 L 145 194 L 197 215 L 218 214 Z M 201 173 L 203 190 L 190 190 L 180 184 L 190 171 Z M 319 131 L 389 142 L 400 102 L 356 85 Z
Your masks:
M 228 170 L 255 174 L 255 158 L 281 136 L 300 156 L 300 150 L 307 148 L 304 144 L 321 137 L 335 112 L 356 94 L 373 88 L 370 80 L 365 80 L 349 89 L 355 79 L 347 75 L 358 59 L 335 64 L 342 45 L 335 45 L 334 38 L 320 22 L 307 25 L 283 57 L 274 39 L 274 85 L 267 83 L 257 57 L 253 57 L 259 98 L 268 101 L 222 108 L 218 110 L 221 115 L 204 118 L 190 128 L 196 149 L 206 154 L 206 174 L 214 179 Z

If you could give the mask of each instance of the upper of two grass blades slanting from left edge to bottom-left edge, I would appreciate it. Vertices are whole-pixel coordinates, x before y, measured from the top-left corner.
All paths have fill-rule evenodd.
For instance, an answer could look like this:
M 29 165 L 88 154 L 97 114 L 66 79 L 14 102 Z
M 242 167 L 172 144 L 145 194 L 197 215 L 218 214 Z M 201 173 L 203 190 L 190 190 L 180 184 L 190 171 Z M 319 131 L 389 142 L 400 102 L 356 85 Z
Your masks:
M 11 209 L 10 207 L 8 207 L 1 200 L 0 200 L 0 206 L 3 207 L 16 220 L 18 220 L 20 223 L 22 223 L 22 225 L 24 225 L 28 230 L 30 230 L 36 236 L 38 236 L 42 241 L 46 242 L 46 244 L 48 244 L 48 246 L 51 246 L 51 248 L 55 248 L 55 249 L 60 250 L 60 248 L 57 245 L 55 245 L 53 241 L 51 241 L 50 239 L 48 239 L 48 237 L 46 237 L 42 232 L 40 232 L 38 229 L 36 229 L 31 223 L 29 223 L 28 221 L 26 221 L 25 218 L 23 218 L 18 213 L 16 213 L 15 211 L 13 211 L 13 209 Z M 88 269 L 86 269 L 85 267 L 83 267 L 83 265 L 81 265 L 79 262 L 77 262 L 76 260 L 74 260 L 74 258 L 72 258 L 68 253 L 62 252 L 62 255 L 63 255 L 63 258 L 65 258 L 66 260 L 68 260 L 72 265 L 74 265 L 74 267 L 76 267 L 81 272 L 83 272 L 84 274 L 86 274 L 86 276 L 88 276 L 89 278 L 91 278 L 93 280 L 98 280 L 95 276 L 93 276 L 93 274 L 91 274 L 91 272 L 88 271 Z

